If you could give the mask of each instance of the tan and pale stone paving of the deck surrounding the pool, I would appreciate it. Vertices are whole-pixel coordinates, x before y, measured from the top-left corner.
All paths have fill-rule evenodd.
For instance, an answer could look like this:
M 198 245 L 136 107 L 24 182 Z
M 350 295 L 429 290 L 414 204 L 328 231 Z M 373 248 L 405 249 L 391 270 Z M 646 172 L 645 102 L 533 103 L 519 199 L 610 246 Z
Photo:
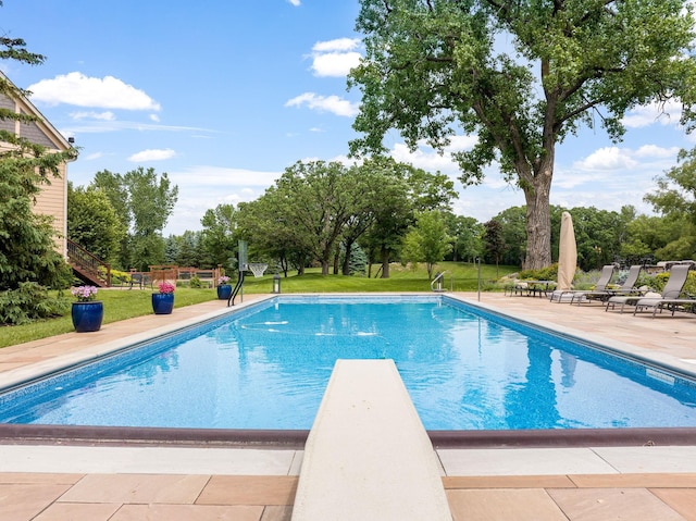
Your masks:
M 476 302 L 475 294 L 461 296 Z M 482 294 L 481 303 L 696 368 L 694 314 L 654 320 L 648 313 L 633 317 L 605 312 L 597 305 L 571 308 L 500 294 Z M 42 371 L 61 357 L 79 357 L 128 335 L 224 312 L 224 306 L 212 301 L 172 315 L 107 324 L 96 333 L 0 349 L 0 376 Z M 438 449 L 437 456 L 455 520 L 696 520 L 696 439 L 686 447 Z M 14 445 L 0 439 L 0 519 L 289 520 L 301 459 L 301 450 Z

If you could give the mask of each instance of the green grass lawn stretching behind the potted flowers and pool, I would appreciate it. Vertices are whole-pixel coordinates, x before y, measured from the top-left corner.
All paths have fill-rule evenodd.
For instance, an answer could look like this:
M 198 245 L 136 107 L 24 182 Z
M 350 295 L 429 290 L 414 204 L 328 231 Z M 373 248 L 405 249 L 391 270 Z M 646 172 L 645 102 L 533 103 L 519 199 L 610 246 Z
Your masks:
M 445 289 L 455 291 L 475 291 L 478 287 L 477 266 L 464 262 L 440 262 L 438 271 L 446 271 Z M 494 281 L 517 271 L 513 266 L 481 266 L 482 290 L 496 289 Z M 245 294 L 271 293 L 273 274 L 262 277 L 247 275 Z M 393 264 L 389 278 L 366 278 L 359 276 L 322 275 L 319 269 L 309 269 L 302 276 L 295 272 L 281 281 L 282 293 L 374 293 L 374 291 L 430 291 L 430 281 L 424 265 L 413 270 Z M 103 323 L 141 317 L 152 313 L 150 290 L 103 289 L 97 298 L 104 305 Z M 182 308 L 217 298 L 215 289 L 196 289 L 178 287 L 175 293 L 174 307 Z M 50 319 L 32 324 L 0 327 L 0 347 L 13 346 L 24 342 L 46 338 L 73 331 L 70 313 L 65 317 Z

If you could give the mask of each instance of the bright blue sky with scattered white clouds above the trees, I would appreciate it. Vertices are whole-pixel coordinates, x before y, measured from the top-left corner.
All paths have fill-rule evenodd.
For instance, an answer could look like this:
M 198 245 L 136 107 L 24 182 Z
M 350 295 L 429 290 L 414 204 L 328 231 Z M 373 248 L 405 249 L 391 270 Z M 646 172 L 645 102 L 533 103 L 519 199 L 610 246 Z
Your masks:
M 29 88 L 41 113 L 82 148 L 69 178 L 87 185 L 101 170 L 166 172 L 179 188 L 165 235 L 200 230 L 204 211 L 253 200 L 297 161 L 346 160 L 360 96 L 346 74 L 363 52 L 353 29 L 358 0 L 4 0 L 0 33 L 23 38 L 45 64 L 2 63 Z M 624 141 L 583 129 L 557 150 L 551 203 L 619 210 L 675 164 L 694 138 L 679 108 L 626 117 Z M 458 136 L 452 150 L 470 147 Z M 409 152 L 399 161 L 456 179 L 447 153 Z M 524 204 L 495 169 L 463 189 L 455 212 L 485 222 Z

